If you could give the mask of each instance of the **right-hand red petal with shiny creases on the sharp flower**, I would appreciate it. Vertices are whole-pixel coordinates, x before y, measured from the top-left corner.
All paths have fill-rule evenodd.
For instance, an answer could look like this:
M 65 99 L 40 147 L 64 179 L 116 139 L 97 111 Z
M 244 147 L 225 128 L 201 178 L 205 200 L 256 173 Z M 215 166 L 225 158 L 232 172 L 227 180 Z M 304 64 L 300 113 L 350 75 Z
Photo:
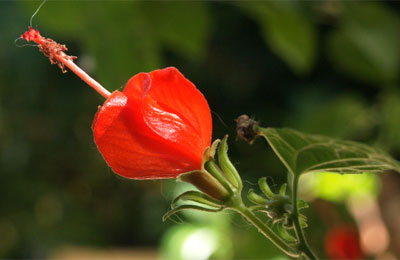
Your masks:
M 206 99 L 193 83 L 170 67 L 134 76 L 124 93 L 141 97 L 142 117 L 154 133 L 201 162 L 211 143 L 212 120 Z

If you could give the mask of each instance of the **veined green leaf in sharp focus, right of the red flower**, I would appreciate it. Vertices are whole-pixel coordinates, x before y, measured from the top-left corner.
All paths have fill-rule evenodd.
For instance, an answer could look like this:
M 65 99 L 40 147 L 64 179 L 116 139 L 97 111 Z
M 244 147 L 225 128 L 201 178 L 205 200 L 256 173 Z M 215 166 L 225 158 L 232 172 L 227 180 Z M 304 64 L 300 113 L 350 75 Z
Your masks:
M 396 170 L 400 165 L 384 152 L 365 144 L 304 134 L 288 128 L 260 128 L 289 172 L 363 173 Z

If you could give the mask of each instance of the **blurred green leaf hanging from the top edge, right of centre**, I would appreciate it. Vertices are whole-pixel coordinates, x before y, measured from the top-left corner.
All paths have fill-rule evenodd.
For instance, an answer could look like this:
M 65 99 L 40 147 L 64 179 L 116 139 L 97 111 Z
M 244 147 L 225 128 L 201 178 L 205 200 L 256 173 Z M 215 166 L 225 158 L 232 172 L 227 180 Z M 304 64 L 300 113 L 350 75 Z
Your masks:
M 295 72 L 305 74 L 316 58 L 316 29 L 295 1 L 243 1 L 260 24 L 265 41 Z

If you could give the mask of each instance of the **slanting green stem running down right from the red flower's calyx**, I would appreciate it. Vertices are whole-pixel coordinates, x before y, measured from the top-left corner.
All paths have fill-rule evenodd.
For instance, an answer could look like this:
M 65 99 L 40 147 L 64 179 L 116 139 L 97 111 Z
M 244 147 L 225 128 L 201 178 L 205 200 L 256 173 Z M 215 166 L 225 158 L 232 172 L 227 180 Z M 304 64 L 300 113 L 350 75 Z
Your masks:
M 237 198 L 233 201 L 232 210 L 235 210 L 247 219 L 258 231 L 268 238 L 276 247 L 282 252 L 291 257 L 299 257 L 300 253 L 296 248 L 288 245 L 282 240 L 274 231 L 272 231 L 264 222 L 262 222 L 251 210 L 249 210 L 243 203 L 241 198 Z

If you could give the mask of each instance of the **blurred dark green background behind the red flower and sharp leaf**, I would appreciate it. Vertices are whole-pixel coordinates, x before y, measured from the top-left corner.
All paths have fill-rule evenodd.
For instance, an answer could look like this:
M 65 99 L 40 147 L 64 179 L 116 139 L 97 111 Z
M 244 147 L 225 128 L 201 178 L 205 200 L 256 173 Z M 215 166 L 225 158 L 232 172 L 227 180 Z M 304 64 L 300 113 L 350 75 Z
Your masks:
M 190 187 L 112 173 L 90 128 L 104 99 L 37 48 L 14 43 L 40 3 L 0 2 L 0 258 L 61 259 L 72 248 L 82 259 L 89 248 L 108 258 L 284 259 L 235 214 L 187 212 L 163 223 L 173 196 Z M 270 176 L 276 190 L 286 174 L 264 141 L 235 140 L 241 114 L 400 158 L 394 1 L 49 1 L 33 27 L 65 43 L 109 90 L 136 73 L 177 67 L 206 96 L 213 138 L 230 134 L 230 157 L 247 187 Z M 399 176 L 354 177 L 304 180 L 312 247 L 325 257 L 324 236 L 342 223 L 357 226 L 363 240 L 349 199 L 363 194 L 378 203 L 376 232 L 387 240 L 363 256 L 400 258 Z

